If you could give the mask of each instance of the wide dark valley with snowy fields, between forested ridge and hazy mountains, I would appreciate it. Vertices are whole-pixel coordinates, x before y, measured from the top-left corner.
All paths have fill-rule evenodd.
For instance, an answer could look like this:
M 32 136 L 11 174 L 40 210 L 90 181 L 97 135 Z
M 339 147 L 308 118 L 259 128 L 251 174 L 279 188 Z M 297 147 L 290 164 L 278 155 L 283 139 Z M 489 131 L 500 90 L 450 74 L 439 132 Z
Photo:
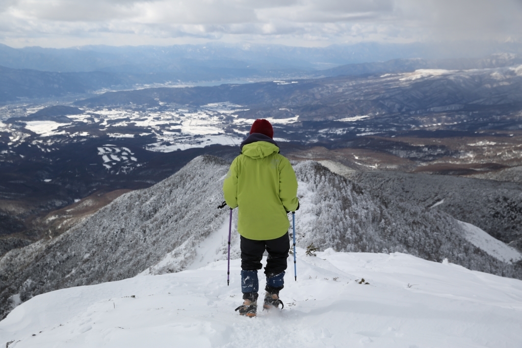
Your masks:
M 9 104 L 0 109 L 2 234 L 38 238 L 21 223 L 28 216 L 148 187 L 201 154 L 231 159 L 256 118 L 274 124 L 294 160 L 520 182 L 521 88 L 515 65 Z

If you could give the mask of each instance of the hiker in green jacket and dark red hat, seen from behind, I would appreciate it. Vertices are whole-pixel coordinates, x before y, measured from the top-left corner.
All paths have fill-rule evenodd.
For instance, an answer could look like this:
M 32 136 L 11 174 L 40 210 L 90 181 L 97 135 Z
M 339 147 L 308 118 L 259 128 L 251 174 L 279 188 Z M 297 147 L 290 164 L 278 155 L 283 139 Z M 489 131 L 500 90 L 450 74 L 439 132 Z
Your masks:
M 287 214 L 299 209 L 298 183 L 290 161 L 279 154 L 274 129 L 264 119 L 256 120 L 250 135 L 241 143 L 241 154 L 234 159 L 223 182 L 224 199 L 230 208 L 239 207 L 238 232 L 241 239 L 240 315 L 257 313 L 258 278 L 265 250 L 266 287 L 263 309 L 281 305 L 287 269 L 290 222 Z

